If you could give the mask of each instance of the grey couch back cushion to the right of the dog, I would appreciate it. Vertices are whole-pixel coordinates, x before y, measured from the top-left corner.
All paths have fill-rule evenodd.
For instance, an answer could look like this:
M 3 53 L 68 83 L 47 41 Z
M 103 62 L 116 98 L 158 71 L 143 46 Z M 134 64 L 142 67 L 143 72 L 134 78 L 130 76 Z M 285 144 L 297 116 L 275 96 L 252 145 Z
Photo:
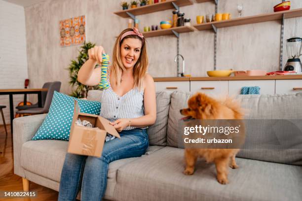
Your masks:
M 241 106 L 247 110 L 245 119 L 267 120 L 259 122 L 260 126 L 258 127 L 250 126 L 248 128 L 245 146 L 249 148 L 241 149 L 237 156 L 248 159 L 302 166 L 301 148 L 293 149 L 287 147 L 281 149 L 273 147 L 270 148 L 270 146 L 267 148 L 267 142 L 276 140 L 272 138 L 275 137 L 275 134 L 278 135 L 279 140 L 294 138 L 293 136 L 289 136 L 289 132 L 286 132 L 286 129 L 288 128 L 284 128 L 282 129 L 282 132 L 278 132 L 274 131 L 275 128 L 270 127 L 269 124 L 273 123 L 274 119 L 292 119 L 295 120 L 295 122 L 297 122 L 297 120 L 302 120 L 302 107 L 298 106 L 302 105 L 302 93 L 296 95 L 238 95 L 236 96 L 236 99 L 241 103 Z M 255 121 L 247 123 L 248 125 L 253 125 L 255 124 Z M 278 123 L 278 121 L 275 123 Z M 280 134 L 282 135 L 280 136 Z M 301 128 L 300 132 L 296 134 L 301 135 Z M 297 135 L 295 136 L 295 139 L 298 140 L 295 141 L 295 144 L 297 147 L 302 147 L 301 136 Z M 268 137 L 271 139 L 268 139 Z M 282 142 L 284 142 L 284 140 L 282 140 Z M 252 144 L 257 145 L 258 148 L 253 147 Z

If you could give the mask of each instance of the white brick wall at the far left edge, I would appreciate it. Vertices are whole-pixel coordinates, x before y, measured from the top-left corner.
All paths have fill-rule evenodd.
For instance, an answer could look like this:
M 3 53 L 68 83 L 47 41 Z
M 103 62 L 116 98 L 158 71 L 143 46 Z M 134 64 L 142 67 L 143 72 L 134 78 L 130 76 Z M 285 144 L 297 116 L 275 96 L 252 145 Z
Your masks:
M 28 78 L 25 14 L 23 6 L 0 0 L 0 89 L 24 88 Z M 23 95 L 13 95 L 14 107 Z M 8 95 L 0 95 L 6 105 L 5 123 L 10 123 Z M 0 117 L 0 124 L 3 124 Z

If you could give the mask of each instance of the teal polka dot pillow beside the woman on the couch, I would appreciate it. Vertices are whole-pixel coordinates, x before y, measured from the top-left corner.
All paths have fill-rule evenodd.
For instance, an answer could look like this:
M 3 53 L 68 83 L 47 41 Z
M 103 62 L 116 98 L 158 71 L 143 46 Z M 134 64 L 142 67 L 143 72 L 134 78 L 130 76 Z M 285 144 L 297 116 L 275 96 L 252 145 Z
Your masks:
M 80 112 L 100 114 L 101 102 L 80 100 L 55 91 L 49 112 L 32 140 L 58 139 L 68 141 L 74 115 L 74 100 L 77 100 Z

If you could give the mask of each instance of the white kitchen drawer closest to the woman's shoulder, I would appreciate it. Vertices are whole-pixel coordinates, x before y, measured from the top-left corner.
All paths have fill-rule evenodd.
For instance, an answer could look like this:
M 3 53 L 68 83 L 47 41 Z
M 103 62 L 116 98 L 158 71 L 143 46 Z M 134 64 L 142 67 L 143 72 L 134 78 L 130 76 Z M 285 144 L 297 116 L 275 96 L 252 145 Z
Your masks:
M 184 91 L 190 92 L 190 82 L 189 81 L 169 81 L 169 82 L 155 82 L 156 91 Z

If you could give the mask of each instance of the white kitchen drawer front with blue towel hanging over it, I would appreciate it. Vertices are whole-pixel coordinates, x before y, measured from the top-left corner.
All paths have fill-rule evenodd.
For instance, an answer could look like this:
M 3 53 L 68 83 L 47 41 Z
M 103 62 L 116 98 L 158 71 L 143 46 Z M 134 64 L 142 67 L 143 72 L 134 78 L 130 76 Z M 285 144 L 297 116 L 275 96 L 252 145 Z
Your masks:
M 242 87 L 260 87 L 260 94 L 275 94 L 275 80 L 229 80 L 228 94 L 238 95 Z

